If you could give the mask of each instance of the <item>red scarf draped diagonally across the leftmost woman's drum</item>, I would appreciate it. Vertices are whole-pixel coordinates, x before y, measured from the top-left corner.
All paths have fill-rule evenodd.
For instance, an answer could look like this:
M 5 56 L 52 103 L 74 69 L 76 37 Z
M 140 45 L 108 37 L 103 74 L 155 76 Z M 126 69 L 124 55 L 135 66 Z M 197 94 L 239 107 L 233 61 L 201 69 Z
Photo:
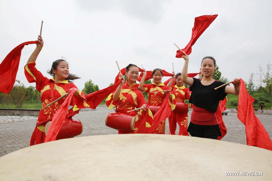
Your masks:
M 76 89 L 71 89 L 71 93 L 62 103 L 60 108 L 57 110 L 57 113 L 53 116 L 52 123 L 50 124 L 50 127 L 48 129 L 44 142 L 56 140 L 57 135 L 62 126 L 63 120 L 67 117 L 67 111 L 69 109 L 70 102 L 73 98 L 73 95 L 76 93 L 76 91 L 77 91 Z

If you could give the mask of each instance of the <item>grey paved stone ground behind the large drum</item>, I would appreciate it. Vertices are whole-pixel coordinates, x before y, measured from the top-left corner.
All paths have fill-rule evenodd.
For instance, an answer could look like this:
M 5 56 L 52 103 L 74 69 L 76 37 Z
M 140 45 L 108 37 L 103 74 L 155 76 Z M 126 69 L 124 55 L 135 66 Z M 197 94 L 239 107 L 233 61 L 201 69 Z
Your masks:
M 82 121 L 84 130 L 79 136 L 118 134 L 117 130 L 105 126 L 105 116 L 110 112 L 107 107 L 99 106 L 94 111 L 79 112 L 74 118 Z M 113 112 L 113 111 L 112 111 Z M 237 113 L 223 116 L 227 135 L 223 141 L 246 144 L 244 125 L 237 118 Z M 189 120 L 191 111 L 188 113 Z M 272 115 L 256 115 L 272 138 Z M 0 116 L 0 156 L 29 146 L 30 138 L 36 124 L 35 116 Z M 169 132 L 168 121 L 166 134 Z M 179 128 L 177 126 L 176 134 Z

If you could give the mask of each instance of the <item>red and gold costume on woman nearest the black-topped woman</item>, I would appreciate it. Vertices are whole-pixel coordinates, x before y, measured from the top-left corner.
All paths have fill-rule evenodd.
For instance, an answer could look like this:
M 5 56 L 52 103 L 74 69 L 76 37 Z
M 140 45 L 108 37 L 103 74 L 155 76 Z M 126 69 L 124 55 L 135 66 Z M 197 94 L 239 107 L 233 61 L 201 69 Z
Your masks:
M 189 88 L 185 87 L 178 87 L 177 85 L 171 87 L 173 94 L 176 97 L 177 103 L 184 103 L 186 99 L 190 99 L 191 91 Z M 179 135 L 189 136 L 187 132 L 188 127 L 188 114 L 187 113 L 179 113 L 172 111 L 171 116 L 168 118 L 169 120 L 169 135 L 175 135 L 176 132 L 176 123 L 180 126 Z

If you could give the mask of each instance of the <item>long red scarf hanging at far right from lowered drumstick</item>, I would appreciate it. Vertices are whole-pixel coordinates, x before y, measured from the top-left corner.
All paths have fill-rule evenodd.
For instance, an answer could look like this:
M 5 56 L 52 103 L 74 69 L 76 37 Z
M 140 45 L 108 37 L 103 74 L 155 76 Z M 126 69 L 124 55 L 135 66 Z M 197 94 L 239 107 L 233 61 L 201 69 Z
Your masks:
M 248 94 L 245 83 L 240 79 L 237 117 L 245 125 L 247 144 L 272 151 L 272 142 L 267 131 L 255 116 L 252 103 L 254 98 Z

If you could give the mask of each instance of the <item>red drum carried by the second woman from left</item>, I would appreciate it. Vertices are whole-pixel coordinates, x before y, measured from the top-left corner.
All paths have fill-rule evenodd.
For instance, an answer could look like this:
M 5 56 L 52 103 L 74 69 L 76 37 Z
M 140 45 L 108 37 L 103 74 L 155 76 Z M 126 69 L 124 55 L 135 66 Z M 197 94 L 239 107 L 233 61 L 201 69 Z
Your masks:
M 135 116 L 131 116 L 126 113 L 108 113 L 105 125 L 121 131 L 133 131 L 135 121 Z

